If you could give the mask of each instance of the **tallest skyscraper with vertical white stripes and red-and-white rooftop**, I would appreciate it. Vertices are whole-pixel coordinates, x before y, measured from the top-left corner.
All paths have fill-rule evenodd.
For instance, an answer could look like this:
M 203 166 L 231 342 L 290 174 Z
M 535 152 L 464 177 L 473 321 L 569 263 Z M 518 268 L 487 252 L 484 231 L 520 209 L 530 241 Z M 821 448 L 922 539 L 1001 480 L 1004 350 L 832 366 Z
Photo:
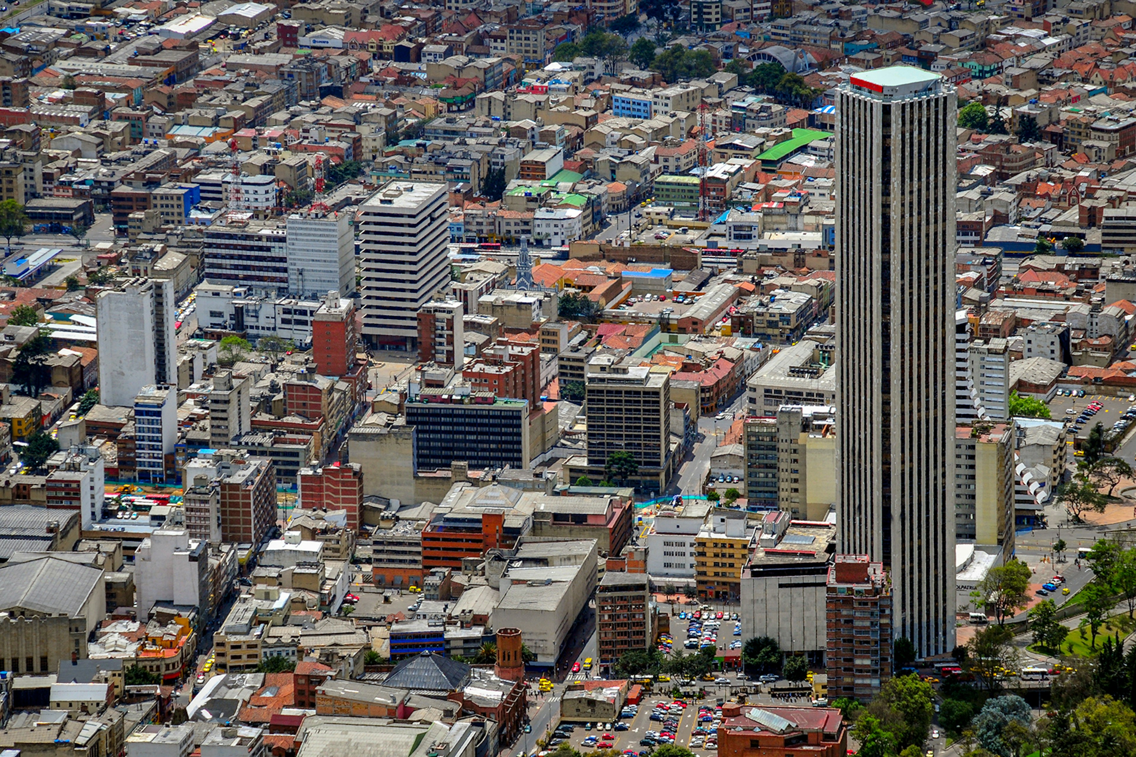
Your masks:
M 955 641 L 955 111 L 907 66 L 837 95 L 837 552 L 891 571 L 920 657 Z

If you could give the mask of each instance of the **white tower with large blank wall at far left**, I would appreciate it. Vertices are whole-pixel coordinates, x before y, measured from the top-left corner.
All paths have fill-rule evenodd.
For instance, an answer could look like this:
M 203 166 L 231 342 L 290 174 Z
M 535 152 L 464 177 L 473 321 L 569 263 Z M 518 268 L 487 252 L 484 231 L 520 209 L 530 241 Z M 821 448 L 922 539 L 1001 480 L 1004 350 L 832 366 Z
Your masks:
M 173 279 L 133 278 L 95 300 L 99 401 L 133 406 L 144 386 L 177 386 Z

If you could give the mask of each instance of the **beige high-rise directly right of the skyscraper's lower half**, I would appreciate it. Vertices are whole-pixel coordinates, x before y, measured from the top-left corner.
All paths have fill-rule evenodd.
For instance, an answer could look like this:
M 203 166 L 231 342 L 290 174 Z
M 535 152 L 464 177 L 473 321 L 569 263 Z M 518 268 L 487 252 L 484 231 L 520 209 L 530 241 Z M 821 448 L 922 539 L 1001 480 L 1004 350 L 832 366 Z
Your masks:
M 960 426 L 954 437 L 954 537 L 1013 554 L 1013 431 Z

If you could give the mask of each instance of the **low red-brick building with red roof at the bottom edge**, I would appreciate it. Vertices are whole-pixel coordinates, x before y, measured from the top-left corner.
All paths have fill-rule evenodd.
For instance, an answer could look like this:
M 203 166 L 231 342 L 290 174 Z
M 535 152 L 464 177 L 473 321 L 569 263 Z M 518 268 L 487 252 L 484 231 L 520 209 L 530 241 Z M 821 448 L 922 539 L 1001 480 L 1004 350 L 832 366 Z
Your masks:
M 844 757 L 847 743 L 847 724 L 833 707 L 721 706 L 719 757 Z

